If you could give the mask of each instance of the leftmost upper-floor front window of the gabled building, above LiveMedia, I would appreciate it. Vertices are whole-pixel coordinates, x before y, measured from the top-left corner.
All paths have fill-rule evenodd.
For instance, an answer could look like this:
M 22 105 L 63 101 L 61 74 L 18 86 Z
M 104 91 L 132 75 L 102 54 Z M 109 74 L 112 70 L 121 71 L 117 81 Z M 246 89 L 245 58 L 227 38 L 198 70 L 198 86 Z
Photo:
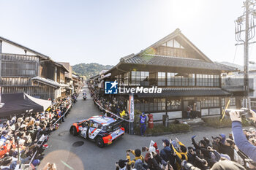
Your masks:
M 149 72 L 132 71 L 132 85 L 148 85 Z

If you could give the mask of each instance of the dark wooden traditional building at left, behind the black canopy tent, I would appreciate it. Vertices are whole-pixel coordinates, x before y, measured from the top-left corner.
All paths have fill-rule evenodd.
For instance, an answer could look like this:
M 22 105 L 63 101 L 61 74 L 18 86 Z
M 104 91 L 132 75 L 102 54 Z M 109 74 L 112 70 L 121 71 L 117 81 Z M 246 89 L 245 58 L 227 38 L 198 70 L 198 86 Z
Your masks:
M 3 45 L 11 50 L 5 52 Z M 65 72 L 69 72 L 65 66 L 47 55 L 0 36 L 1 93 L 24 92 L 37 98 L 59 98 L 68 86 Z

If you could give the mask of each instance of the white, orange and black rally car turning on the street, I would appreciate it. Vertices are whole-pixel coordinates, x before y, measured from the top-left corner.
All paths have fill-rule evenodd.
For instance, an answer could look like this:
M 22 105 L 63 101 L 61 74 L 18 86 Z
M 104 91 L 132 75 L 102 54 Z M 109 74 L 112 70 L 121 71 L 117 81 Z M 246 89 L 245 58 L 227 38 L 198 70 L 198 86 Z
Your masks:
M 85 139 L 96 142 L 98 147 L 112 144 L 113 140 L 124 135 L 124 128 L 121 127 L 122 120 L 116 120 L 106 116 L 93 116 L 87 120 L 80 120 L 73 123 L 69 129 L 70 134 L 80 135 Z M 90 127 L 90 128 L 89 128 Z

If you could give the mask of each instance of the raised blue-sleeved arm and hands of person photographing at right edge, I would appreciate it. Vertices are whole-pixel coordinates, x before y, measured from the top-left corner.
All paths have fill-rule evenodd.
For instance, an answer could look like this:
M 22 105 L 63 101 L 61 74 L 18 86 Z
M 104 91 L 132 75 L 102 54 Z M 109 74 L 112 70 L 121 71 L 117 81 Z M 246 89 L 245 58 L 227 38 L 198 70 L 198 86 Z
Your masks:
M 252 117 L 249 117 L 249 119 L 255 122 L 256 113 L 252 110 L 249 112 L 252 114 Z M 249 158 L 252 158 L 253 161 L 256 161 L 256 147 L 252 145 L 244 135 L 239 112 L 231 111 L 230 119 L 232 120 L 233 136 L 238 149 L 248 155 Z

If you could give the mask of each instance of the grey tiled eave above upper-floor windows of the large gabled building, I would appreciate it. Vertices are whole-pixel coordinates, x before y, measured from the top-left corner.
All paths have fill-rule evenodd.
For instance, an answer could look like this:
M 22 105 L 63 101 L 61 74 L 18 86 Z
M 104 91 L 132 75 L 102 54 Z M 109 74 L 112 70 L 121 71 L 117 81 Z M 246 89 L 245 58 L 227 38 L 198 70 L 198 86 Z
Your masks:
M 221 63 L 211 63 L 195 58 L 181 58 L 164 55 L 130 55 L 127 58 L 121 58 L 121 63 L 146 64 L 153 66 L 173 66 L 192 69 L 213 69 L 227 72 L 236 72 L 236 68 Z

